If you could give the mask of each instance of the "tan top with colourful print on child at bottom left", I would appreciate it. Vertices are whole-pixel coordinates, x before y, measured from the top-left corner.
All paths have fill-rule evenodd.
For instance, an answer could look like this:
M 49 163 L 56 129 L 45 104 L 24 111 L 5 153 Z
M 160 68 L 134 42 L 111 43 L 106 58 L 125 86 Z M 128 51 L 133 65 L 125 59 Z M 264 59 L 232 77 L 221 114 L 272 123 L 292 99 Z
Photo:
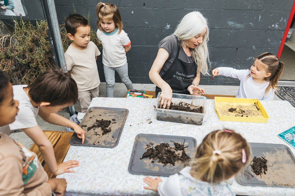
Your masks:
M 0 133 L 0 195 L 52 196 L 48 176 L 35 153 Z

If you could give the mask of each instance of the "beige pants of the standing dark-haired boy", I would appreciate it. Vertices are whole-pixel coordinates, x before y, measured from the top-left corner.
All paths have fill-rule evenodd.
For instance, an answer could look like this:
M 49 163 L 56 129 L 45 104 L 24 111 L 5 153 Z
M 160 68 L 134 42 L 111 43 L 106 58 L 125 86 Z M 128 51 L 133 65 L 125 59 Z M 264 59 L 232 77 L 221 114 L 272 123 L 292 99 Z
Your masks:
M 99 97 L 98 87 L 88 90 L 88 91 L 78 91 L 78 99 L 81 105 L 82 113 L 85 113 L 90 105 L 92 98 Z

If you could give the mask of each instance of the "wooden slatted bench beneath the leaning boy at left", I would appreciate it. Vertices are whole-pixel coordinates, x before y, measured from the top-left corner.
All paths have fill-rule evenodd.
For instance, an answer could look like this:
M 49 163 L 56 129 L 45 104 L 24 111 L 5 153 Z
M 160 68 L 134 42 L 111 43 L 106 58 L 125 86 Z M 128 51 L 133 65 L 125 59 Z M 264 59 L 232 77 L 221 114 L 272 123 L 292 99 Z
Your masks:
M 67 131 L 43 131 L 48 138 L 48 140 L 52 143 L 53 145 L 53 151 L 55 155 L 55 159 L 57 164 L 60 164 L 63 162 L 65 155 L 67 154 L 70 144 L 69 140 L 72 137 L 74 132 L 67 132 Z M 44 170 L 48 175 L 48 178 L 55 177 L 53 173 L 49 170 L 47 164 L 45 164 L 44 159 L 41 155 L 41 152 L 39 150 L 39 147 L 34 143 L 30 150 L 38 156 L 39 161 L 41 162 L 42 165 L 44 165 Z

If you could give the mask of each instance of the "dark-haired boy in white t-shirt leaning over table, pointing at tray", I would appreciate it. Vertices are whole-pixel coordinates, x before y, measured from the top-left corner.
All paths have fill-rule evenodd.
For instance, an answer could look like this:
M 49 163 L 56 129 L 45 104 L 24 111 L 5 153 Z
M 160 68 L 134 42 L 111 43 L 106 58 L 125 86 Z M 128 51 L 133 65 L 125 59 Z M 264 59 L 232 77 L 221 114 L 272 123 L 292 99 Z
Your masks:
M 39 115 L 48 123 L 72 128 L 84 143 L 84 130 L 76 123 L 55 114 L 76 103 L 76 82 L 68 73 L 49 69 L 40 74 L 29 86 L 14 85 L 12 88 L 14 100 L 19 101 L 19 113 L 13 123 L 0 127 L 0 132 L 10 135 L 13 132 L 24 131 L 39 147 L 45 163 L 54 175 L 74 172 L 69 168 L 77 167 L 78 161 L 70 160 L 57 165 L 53 146 L 38 126 L 36 117 Z

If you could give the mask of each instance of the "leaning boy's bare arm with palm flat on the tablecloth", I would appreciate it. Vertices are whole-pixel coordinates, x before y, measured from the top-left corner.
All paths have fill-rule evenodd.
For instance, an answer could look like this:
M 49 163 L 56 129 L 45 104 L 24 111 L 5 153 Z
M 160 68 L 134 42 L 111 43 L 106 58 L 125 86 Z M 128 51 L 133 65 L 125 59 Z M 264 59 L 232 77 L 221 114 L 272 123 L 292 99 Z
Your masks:
M 74 171 L 69 170 L 69 168 L 79 166 L 79 162 L 74 160 L 66 161 L 64 163 L 60 163 L 59 165 L 57 165 L 53 151 L 53 146 L 38 125 L 31 128 L 25 128 L 23 129 L 23 131 L 39 147 L 39 150 L 44 158 L 45 163 L 48 165 L 50 171 L 54 175 L 60 175 L 65 172 L 73 173 Z

